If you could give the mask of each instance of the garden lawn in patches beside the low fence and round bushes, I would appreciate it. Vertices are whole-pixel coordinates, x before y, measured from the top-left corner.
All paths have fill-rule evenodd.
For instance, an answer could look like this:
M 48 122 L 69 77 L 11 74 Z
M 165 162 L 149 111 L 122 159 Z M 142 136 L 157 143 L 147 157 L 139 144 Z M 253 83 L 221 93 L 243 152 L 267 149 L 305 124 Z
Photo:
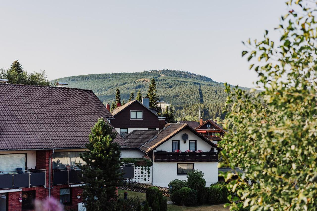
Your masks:
M 123 198 L 124 195 L 123 193 L 127 192 L 128 193 L 128 198 L 129 197 L 140 197 L 141 201 L 145 201 L 145 193 L 139 193 L 139 192 L 134 192 L 134 191 L 129 191 L 129 190 L 121 190 L 118 189 L 118 193 L 120 194 L 120 198 Z M 167 198 L 167 201 L 170 201 L 170 198 Z M 224 208 L 223 204 L 217 204 L 217 205 L 202 205 L 199 207 L 183 207 L 183 206 L 178 206 L 175 204 L 168 204 L 167 205 L 167 210 L 168 211 L 225 211 L 225 210 L 229 210 L 229 208 Z

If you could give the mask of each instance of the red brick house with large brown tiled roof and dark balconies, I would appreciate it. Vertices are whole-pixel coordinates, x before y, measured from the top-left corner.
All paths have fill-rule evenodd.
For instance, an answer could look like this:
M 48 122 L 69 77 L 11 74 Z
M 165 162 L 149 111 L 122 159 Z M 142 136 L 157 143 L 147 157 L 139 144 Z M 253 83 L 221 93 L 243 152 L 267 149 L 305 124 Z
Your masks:
M 91 90 L 0 83 L 0 211 L 32 210 L 49 195 L 77 210 L 75 162 L 85 164 L 98 118 L 114 117 Z

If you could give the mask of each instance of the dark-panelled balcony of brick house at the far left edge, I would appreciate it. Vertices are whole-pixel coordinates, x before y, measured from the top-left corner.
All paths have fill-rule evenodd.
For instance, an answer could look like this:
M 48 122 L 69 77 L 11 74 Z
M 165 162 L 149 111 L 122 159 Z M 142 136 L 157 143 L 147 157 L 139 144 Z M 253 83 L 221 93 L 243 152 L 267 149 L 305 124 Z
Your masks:
M 0 172 L 0 189 L 45 186 L 46 170 Z

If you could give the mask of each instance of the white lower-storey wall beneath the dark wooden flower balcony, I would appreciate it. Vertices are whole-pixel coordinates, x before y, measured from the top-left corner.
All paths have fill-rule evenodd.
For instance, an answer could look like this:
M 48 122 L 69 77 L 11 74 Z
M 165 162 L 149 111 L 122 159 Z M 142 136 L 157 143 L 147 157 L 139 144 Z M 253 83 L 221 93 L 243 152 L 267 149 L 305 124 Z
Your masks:
M 194 169 L 204 173 L 206 186 L 218 182 L 218 162 L 195 162 Z M 187 175 L 177 175 L 177 162 L 154 162 L 152 171 L 155 186 L 168 187 L 174 179 L 187 180 Z

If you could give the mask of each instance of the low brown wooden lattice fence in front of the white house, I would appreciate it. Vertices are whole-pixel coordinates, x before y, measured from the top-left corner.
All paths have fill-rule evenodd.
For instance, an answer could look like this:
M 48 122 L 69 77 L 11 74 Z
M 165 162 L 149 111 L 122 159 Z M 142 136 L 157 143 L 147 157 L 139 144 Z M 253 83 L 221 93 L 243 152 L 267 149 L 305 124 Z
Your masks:
M 146 193 L 146 190 L 150 187 L 157 187 L 164 196 L 170 197 L 170 191 L 168 188 L 154 186 L 150 184 L 144 184 L 140 182 L 131 182 L 131 181 L 122 181 L 122 185 L 118 187 L 118 189 L 122 190 L 131 190 L 140 193 Z

